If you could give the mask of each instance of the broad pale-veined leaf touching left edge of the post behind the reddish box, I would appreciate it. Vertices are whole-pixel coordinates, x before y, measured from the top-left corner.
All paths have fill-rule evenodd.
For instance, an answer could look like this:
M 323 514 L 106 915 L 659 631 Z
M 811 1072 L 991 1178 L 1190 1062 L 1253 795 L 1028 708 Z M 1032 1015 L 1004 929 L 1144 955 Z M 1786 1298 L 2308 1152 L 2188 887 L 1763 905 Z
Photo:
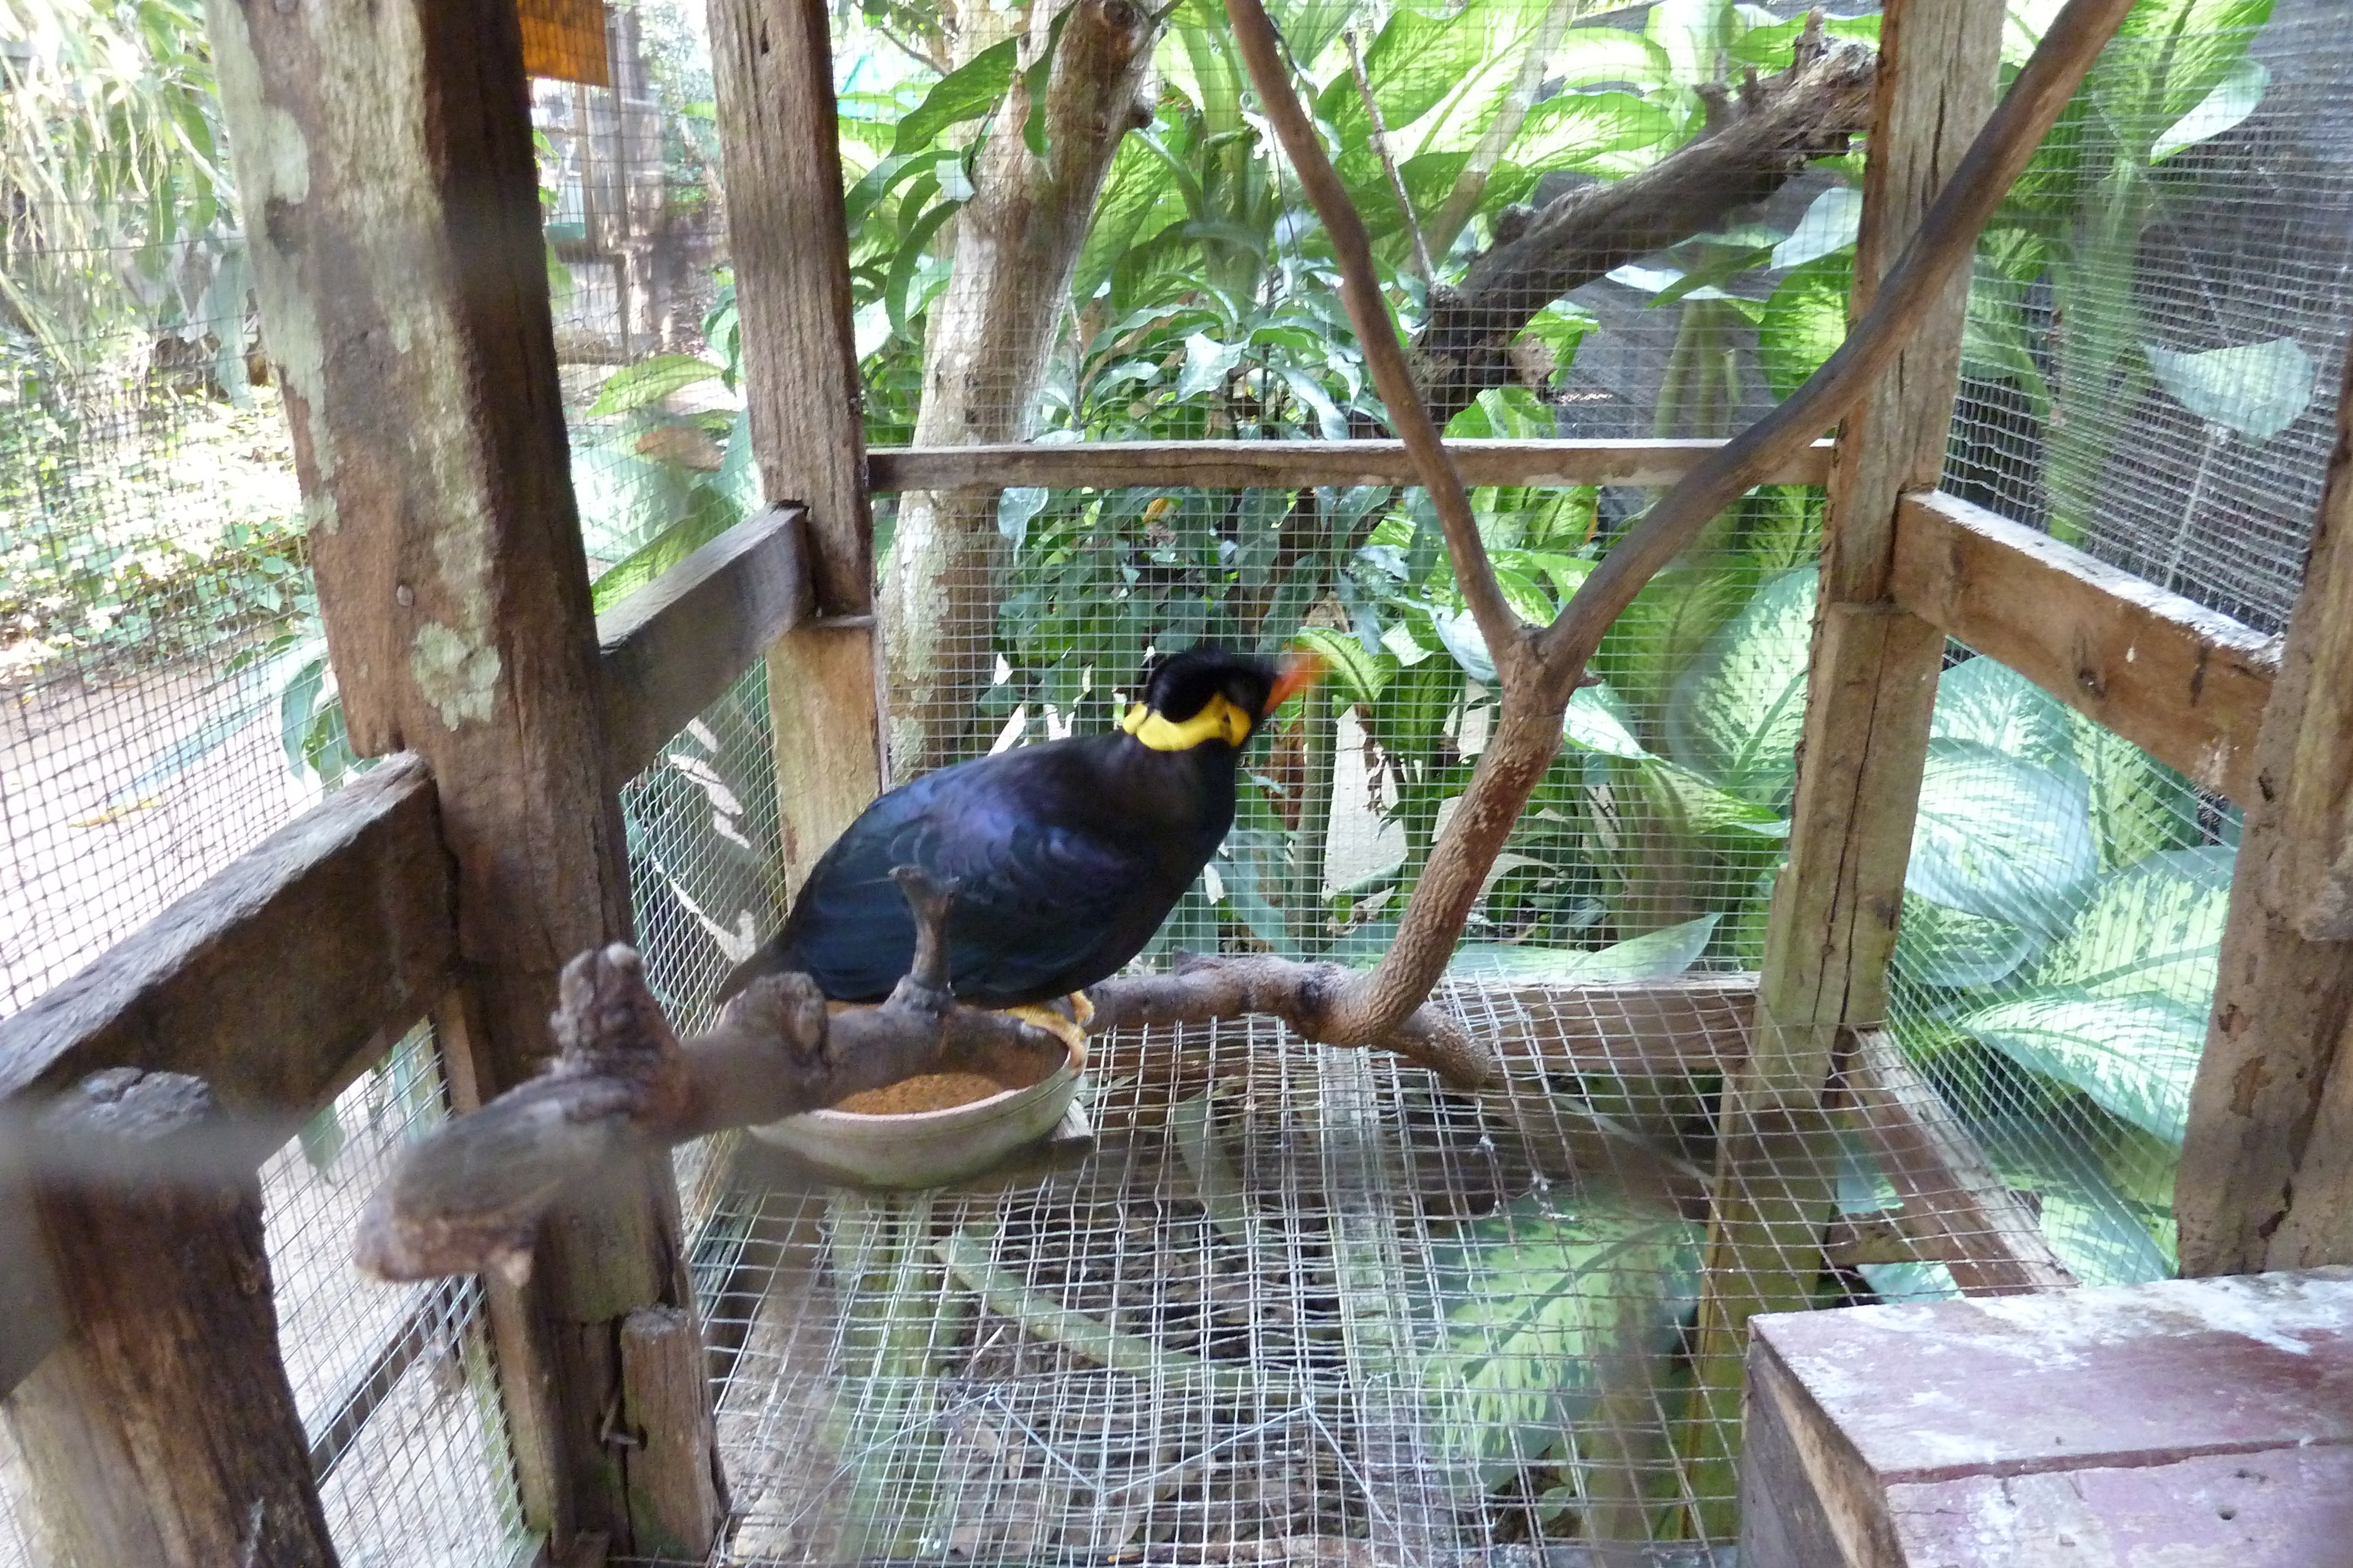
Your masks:
M 1779 804 L 1805 726 L 1812 637 L 1814 569 L 1767 578 L 1675 682 L 1668 755 L 1744 799 Z

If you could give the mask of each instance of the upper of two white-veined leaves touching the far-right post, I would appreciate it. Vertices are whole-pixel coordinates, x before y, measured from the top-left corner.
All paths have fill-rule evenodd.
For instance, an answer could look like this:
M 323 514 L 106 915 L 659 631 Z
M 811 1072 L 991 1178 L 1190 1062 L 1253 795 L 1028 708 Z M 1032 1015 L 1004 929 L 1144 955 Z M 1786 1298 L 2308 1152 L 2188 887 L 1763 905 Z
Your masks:
M 2214 1001 L 2231 863 L 2228 849 L 2209 844 L 2101 877 L 2082 914 L 2035 964 L 2035 985 L 2071 985 L 2092 997 L 2160 992 L 2205 1011 Z

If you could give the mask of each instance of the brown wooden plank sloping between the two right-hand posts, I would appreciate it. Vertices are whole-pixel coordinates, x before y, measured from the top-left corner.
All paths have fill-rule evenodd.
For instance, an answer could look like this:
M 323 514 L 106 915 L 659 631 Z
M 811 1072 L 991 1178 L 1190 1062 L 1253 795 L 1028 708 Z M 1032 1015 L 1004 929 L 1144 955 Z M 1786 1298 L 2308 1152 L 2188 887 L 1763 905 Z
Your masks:
M 2242 806 L 2257 799 L 2275 637 L 1941 491 L 1897 505 L 1892 588 L 2158 762 Z

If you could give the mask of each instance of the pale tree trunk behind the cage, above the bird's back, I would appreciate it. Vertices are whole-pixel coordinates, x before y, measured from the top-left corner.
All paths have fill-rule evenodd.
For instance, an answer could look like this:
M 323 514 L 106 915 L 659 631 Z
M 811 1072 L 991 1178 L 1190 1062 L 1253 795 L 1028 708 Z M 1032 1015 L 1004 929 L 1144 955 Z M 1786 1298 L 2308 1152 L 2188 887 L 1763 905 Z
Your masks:
M 1031 16 L 1026 54 L 1045 47 L 1052 14 Z M 1148 125 L 1153 16 L 1129 0 L 1075 0 L 1047 82 L 1045 158 L 1024 136 L 1028 92 L 1016 80 L 981 150 L 976 193 L 955 219 L 948 289 L 925 336 L 918 447 L 1019 442 L 1068 313 L 1071 275 L 1094 219 L 1111 155 Z M 955 762 L 995 663 L 1007 548 L 993 489 L 908 494 L 889 576 L 882 646 L 889 665 L 892 776 Z

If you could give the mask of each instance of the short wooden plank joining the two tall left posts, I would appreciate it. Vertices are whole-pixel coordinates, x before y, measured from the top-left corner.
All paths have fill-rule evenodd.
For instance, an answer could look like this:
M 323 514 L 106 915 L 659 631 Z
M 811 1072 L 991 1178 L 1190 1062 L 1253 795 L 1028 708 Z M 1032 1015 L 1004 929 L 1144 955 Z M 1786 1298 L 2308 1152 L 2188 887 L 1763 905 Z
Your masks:
M 800 522 L 795 508 L 739 522 L 598 616 L 607 788 L 642 773 L 807 614 Z

